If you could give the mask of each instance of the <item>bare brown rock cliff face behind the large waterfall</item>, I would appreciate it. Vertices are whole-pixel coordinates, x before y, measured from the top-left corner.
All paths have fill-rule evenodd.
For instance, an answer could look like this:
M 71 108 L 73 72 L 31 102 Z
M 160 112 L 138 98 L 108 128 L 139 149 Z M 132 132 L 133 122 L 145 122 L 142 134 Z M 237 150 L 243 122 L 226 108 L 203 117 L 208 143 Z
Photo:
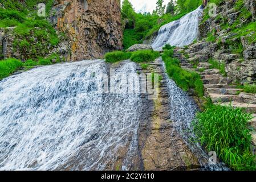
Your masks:
M 50 22 L 70 39 L 71 60 L 122 48 L 120 0 L 55 0 Z

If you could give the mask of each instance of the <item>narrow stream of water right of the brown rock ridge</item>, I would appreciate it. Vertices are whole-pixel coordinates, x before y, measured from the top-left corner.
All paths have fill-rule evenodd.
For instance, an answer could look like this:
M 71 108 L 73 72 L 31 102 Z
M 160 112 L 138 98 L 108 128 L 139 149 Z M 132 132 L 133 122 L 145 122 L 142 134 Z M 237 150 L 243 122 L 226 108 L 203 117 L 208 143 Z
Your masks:
M 164 65 L 165 67 L 165 65 Z M 165 68 L 164 68 L 165 69 Z M 165 77 L 168 77 L 165 73 Z M 170 105 L 170 120 L 174 123 L 174 128 L 184 138 L 193 154 L 197 156 L 201 163 L 202 169 L 210 169 L 214 171 L 229 170 L 223 163 L 216 165 L 208 164 L 209 156 L 206 154 L 198 142 L 192 142 L 196 139 L 193 133 L 192 122 L 198 112 L 196 102 L 189 97 L 188 93 L 178 88 L 176 83 L 169 78 L 167 80 L 168 90 L 170 92 L 169 105 Z

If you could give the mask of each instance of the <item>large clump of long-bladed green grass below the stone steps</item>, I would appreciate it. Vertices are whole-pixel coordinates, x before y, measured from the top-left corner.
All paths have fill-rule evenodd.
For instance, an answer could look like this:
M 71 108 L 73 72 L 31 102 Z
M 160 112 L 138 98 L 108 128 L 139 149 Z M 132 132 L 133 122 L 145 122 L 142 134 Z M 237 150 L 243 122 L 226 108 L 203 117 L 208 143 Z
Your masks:
M 194 133 L 207 151 L 216 151 L 227 166 L 235 170 L 255 170 L 250 152 L 250 114 L 231 106 L 209 105 L 193 122 Z

